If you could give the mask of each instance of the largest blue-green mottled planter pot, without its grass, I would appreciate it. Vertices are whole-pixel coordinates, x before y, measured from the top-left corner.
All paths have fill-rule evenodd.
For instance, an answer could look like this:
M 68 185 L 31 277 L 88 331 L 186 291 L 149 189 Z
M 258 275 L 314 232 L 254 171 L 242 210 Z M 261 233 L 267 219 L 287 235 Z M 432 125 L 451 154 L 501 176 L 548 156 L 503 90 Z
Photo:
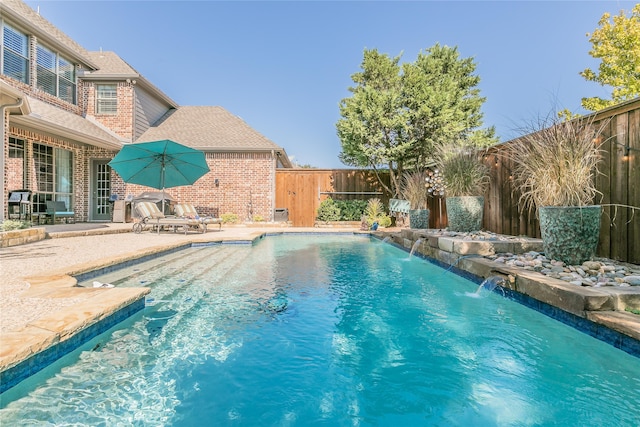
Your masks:
M 545 256 L 569 265 L 582 264 L 596 254 L 601 206 L 538 208 Z

